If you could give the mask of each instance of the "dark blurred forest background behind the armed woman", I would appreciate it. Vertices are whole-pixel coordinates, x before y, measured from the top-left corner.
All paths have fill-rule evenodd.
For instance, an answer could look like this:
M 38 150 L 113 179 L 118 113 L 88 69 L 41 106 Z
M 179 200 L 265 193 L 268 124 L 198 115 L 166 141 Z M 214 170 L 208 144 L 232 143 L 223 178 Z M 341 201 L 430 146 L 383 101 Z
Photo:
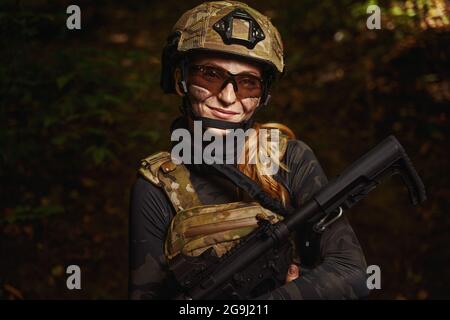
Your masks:
M 1 298 L 127 297 L 130 187 L 139 160 L 168 148 L 180 103 L 159 88 L 160 53 L 199 3 L 1 2 Z M 365 26 L 371 3 L 381 30 Z M 66 28 L 69 4 L 81 7 L 79 31 Z M 427 187 L 416 208 L 392 179 L 347 212 L 381 267 L 371 298 L 450 298 L 446 2 L 248 4 L 272 17 L 286 51 L 259 120 L 291 127 L 330 178 L 394 134 Z M 82 290 L 65 286 L 71 264 Z

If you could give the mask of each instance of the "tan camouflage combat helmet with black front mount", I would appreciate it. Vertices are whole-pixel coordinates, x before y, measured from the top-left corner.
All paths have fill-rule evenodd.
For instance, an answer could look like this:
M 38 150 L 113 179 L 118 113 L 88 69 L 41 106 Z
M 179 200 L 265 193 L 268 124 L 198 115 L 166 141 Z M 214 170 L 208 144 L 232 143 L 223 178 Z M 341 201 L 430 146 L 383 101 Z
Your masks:
M 269 18 L 238 1 L 205 2 L 185 12 L 162 56 L 161 87 L 174 92 L 173 73 L 193 51 L 214 51 L 263 63 L 273 76 L 284 70 L 283 43 Z

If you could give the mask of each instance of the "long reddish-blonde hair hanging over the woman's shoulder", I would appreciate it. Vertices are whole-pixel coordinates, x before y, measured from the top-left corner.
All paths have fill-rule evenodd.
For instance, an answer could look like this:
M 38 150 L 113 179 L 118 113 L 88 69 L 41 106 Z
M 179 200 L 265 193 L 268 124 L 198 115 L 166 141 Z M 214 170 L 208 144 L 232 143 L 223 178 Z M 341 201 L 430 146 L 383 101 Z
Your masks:
M 260 129 L 277 129 L 289 139 L 295 139 L 295 134 L 291 129 L 280 123 L 255 123 L 253 129 L 255 130 L 254 135 L 256 135 L 256 139 L 254 139 L 255 137 L 253 139 L 252 137 L 247 139 L 244 147 L 245 161 L 243 164 L 238 165 L 238 169 L 258 183 L 267 194 L 279 199 L 286 206 L 290 200 L 289 192 L 274 178 L 273 174 L 268 173 L 267 166 L 262 162 L 258 150 L 263 148 L 266 154 L 271 157 L 271 160 L 282 170 L 288 171 L 288 168 L 281 162 L 281 158 L 272 157 L 274 155 L 274 145 L 268 143 L 266 139 L 261 139 L 260 141 L 258 137 L 260 135 Z M 251 159 L 253 161 L 250 161 Z

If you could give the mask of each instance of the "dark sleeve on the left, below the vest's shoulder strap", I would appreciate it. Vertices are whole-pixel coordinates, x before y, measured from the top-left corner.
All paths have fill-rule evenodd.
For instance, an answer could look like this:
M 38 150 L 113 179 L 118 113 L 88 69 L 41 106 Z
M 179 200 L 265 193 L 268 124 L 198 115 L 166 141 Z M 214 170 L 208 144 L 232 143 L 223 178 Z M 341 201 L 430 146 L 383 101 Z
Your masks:
M 172 216 L 163 191 L 138 177 L 130 199 L 130 299 L 167 298 L 170 284 L 163 246 Z

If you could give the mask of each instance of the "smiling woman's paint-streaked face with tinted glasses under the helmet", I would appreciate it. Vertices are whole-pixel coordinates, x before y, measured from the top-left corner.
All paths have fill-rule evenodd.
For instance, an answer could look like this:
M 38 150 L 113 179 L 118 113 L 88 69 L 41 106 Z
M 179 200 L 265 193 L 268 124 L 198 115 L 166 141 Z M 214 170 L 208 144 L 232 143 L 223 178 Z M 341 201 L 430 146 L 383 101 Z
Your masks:
M 190 69 L 187 79 L 189 98 L 196 116 L 229 122 L 242 122 L 253 115 L 259 105 L 260 92 L 262 91 L 261 88 L 258 90 L 255 87 L 255 85 L 262 86 L 261 83 L 257 83 L 257 80 L 260 80 L 262 76 L 261 69 L 257 65 L 244 60 L 213 55 L 199 56 L 194 59 L 192 65 L 200 66 L 200 70 L 203 72 L 200 75 L 203 78 L 200 81 L 195 81 L 192 72 L 199 73 L 200 71 Z M 204 71 L 203 66 L 206 67 L 207 71 Z M 238 89 L 239 93 L 235 91 L 232 81 L 228 82 L 223 88 L 220 86 L 218 90 L 205 88 L 209 85 L 205 80 L 207 81 L 208 77 L 215 77 L 214 70 L 222 72 L 222 74 L 228 71 L 233 75 L 239 75 L 240 78 L 237 79 L 238 88 L 241 88 L 241 90 Z M 213 73 L 211 74 L 211 72 Z M 211 79 L 215 81 L 215 78 Z

